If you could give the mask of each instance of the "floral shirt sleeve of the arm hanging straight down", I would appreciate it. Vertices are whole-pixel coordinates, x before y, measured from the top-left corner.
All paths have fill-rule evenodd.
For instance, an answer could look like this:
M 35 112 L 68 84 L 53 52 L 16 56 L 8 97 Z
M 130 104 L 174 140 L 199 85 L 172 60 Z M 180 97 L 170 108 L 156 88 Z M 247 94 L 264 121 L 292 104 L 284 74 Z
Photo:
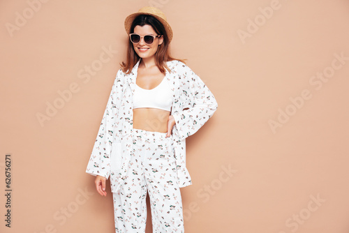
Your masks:
M 120 71 L 120 70 L 119 70 Z M 119 74 L 118 71 L 118 74 Z M 103 114 L 101 126 L 99 126 L 98 135 L 92 149 L 86 172 L 94 176 L 104 176 L 106 179 L 110 176 L 110 154 L 112 151 L 113 124 L 114 124 L 114 103 L 117 89 L 118 75 L 114 80 L 112 91 L 110 92 L 107 106 Z

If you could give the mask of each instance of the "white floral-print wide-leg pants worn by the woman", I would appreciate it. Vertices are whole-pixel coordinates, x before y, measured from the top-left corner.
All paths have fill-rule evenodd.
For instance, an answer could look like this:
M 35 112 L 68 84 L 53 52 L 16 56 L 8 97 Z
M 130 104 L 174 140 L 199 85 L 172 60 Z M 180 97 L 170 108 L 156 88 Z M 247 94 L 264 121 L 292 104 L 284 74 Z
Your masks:
M 147 191 L 153 232 L 184 232 L 172 135 L 165 135 L 133 129 L 128 177 L 119 193 L 113 193 L 115 232 L 145 232 Z

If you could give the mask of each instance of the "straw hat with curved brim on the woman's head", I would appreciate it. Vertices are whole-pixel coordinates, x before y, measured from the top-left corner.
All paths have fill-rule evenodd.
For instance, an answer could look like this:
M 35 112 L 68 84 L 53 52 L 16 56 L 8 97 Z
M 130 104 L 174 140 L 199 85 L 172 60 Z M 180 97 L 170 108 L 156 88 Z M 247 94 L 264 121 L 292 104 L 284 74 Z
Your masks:
M 171 42 L 173 33 L 170 27 L 170 24 L 168 24 L 165 14 L 160 9 L 154 6 L 144 6 L 143 8 L 140 8 L 140 10 L 138 10 L 138 13 L 133 13 L 131 15 L 128 15 L 128 17 L 126 17 L 126 20 L 125 20 L 126 33 L 128 34 L 130 33 L 132 22 L 133 20 L 135 20 L 135 17 L 137 17 L 138 15 L 154 16 L 156 20 L 160 21 L 163 24 L 163 27 L 165 27 L 165 31 L 168 34 L 168 39 Z

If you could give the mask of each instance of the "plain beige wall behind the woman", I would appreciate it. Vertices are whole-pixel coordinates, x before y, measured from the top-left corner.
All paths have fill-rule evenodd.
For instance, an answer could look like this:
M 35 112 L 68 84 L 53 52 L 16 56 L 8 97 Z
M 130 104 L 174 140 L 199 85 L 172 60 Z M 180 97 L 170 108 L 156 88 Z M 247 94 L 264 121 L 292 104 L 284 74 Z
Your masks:
M 344 0 L 0 1 L 2 190 L 6 153 L 13 162 L 0 232 L 114 232 L 112 195 L 85 169 L 125 56 L 124 18 L 150 3 L 168 16 L 174 57 L 218 101 L 187 140 L 186 232 L 348 233 Z

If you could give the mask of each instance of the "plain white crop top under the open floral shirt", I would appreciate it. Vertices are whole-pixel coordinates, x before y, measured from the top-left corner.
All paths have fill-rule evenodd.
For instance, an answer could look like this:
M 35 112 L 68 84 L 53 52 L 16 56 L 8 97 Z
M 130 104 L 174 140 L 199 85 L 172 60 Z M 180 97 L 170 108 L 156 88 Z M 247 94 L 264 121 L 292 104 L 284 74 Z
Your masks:
M 168 84 L 165 75 L 158 86 L 153 89 L 142 89 L 135 84 L 135 93 L 133 94 L 133 108 L 153 107 L 160 110 L 171 111 L 173 101 L 173 92 Z

